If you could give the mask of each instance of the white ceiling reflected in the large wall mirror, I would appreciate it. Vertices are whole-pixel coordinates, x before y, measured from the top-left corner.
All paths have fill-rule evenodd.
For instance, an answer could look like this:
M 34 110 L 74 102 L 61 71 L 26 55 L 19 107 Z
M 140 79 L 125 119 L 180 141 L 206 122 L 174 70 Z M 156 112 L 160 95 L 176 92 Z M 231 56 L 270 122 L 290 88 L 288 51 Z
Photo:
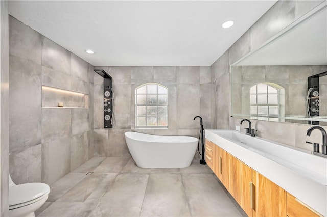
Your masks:
M 327 65 L 327 9 L 253 52 L 237 65 Z

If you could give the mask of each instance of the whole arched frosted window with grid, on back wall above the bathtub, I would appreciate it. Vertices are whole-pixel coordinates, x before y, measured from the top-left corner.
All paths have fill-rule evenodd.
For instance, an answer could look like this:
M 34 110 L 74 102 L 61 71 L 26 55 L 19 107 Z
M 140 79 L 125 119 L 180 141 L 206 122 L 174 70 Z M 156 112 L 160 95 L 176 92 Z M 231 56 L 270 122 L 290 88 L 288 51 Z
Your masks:
M 135 88 L 135 128 L 168 128 L 168 89 L 157 83 Z

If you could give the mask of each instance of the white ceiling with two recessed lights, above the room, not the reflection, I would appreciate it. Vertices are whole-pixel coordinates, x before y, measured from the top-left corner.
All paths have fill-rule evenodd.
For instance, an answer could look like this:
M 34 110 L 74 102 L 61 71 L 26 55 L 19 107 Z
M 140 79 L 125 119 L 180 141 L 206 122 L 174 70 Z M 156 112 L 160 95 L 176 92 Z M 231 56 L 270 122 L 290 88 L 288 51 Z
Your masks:
M 210 66 L 275 2 L 9 1 L 9 14 L 95 66 Z

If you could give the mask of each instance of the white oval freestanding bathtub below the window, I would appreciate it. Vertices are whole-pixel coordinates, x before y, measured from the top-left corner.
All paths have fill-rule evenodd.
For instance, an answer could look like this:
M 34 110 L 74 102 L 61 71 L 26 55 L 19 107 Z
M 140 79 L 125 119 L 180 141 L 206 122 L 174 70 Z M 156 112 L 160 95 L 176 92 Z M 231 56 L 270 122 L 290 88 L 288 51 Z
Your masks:
M 198 146 L 198 139 L 181 135 L 149 135 L 125 132 L 128 149 L 138 167 L 189 167 Z

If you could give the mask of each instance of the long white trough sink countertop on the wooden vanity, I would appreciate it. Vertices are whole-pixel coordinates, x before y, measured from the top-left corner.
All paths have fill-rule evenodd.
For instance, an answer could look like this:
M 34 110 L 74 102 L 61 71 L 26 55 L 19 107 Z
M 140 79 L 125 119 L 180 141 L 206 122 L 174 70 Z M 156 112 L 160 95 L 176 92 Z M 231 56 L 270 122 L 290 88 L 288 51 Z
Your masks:
M 205 138 L 327 215 L 327 158 L 236 130 L 205 130 Z

